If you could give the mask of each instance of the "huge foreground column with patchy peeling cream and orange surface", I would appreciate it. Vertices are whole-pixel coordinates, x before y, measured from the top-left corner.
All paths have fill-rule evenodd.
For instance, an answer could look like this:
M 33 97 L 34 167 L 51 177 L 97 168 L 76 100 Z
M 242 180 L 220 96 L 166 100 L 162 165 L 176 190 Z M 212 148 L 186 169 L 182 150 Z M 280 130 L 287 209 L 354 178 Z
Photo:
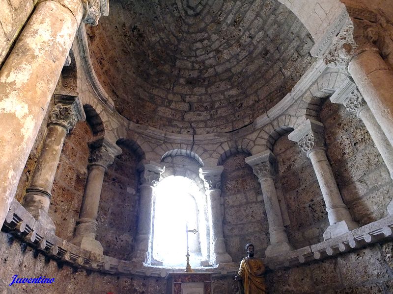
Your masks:
M 77 28 L 84 14 L 89 20 L 106 12 L 101 2 L 39 0 L 0 70 L 0 225 Z

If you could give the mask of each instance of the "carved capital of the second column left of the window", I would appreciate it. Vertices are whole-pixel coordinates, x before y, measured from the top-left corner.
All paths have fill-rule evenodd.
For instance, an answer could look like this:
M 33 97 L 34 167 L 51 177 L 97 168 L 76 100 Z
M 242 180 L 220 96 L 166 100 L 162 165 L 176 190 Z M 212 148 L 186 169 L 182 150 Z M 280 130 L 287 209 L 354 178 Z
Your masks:
M 89 147 L 90 166 L 99 165 L 105 169 L 107 169 L 113 163 L 114 158 L 122 152 L 120 147 L 112 144 L 105 138 L 89 142 Z

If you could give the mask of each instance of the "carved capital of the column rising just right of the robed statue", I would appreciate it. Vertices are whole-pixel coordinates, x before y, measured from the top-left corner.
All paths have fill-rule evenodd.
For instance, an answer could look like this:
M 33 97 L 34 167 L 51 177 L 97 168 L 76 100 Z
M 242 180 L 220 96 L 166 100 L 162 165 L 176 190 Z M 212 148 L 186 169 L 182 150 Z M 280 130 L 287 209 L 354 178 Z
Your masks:
M 277 173 L 276 157 L 270 150 L 247 157 L 245 161 L 253 168 L 259 181 L 265 178 L 274 178 Z

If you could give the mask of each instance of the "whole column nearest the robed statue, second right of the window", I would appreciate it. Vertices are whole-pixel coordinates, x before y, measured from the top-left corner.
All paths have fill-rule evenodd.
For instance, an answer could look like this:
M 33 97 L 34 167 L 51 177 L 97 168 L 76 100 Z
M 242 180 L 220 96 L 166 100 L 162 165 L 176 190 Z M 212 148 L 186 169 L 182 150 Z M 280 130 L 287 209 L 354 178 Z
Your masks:
M 262 189 L 270 233 L 270 245 L 266 248 L 266 257 L 294 250 L 294 247 L 288 241 L 274 185 L 274 177 L 277 171 L 276 157 L 270 150 L 266 150 L 247 157 L 246 163 L 253 168 Z

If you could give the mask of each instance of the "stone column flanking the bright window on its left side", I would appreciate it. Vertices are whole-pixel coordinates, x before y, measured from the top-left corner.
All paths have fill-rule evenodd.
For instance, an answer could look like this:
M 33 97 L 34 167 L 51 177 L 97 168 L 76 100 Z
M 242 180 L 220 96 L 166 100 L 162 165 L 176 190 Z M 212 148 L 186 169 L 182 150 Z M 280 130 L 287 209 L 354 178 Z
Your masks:
M 154 185 L 160 180 L 165 167 L 155 162 L 141 163 L 138 166 L 138 171 L 140 172 L 140 201 L 133 260 L 150 264 L 152 260 L 151 241 Z

